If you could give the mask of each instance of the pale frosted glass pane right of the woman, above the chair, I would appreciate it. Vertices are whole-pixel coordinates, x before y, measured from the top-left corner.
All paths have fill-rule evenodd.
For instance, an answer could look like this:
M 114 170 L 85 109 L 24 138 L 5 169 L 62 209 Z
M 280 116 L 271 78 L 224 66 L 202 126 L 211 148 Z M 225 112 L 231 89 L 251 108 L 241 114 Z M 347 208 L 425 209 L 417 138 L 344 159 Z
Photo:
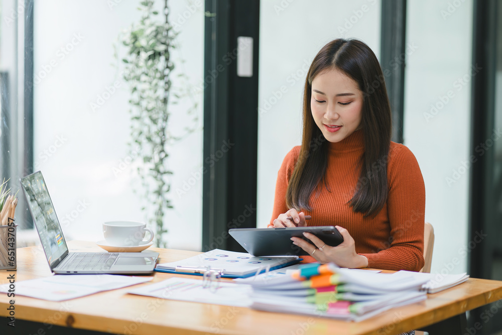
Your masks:
M 406 39 L 417 49 L 406 64 L 404 144 L 424 176 L 425 219 L 436 235 L 432 273 L 466 271 L 469 250 L 469 171 L 462 162 L 470 157 L 472 2 L 454 3 L 461 5 L 412 0 L 407 14 Z M 431 104 L 443 106 L 431 111 Z

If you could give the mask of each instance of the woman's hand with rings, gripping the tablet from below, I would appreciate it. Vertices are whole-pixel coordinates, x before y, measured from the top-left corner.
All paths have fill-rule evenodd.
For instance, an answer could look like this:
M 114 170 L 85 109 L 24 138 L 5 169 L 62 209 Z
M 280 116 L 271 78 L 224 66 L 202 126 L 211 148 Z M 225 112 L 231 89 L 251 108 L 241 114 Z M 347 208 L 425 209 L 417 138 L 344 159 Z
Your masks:
M 334 262 L 342 268 L 366 268 L 368 259 L 355 252 L 355 242 L 348 231 L 339 226 L 335 228 L 343 237 L 343 242 L 336 247 L 325 245 L 324 242 L 310 233 L 303 233 L 303 235 L 312 241 L 314 245 L 298 237 L 293 237 L 291 240 L 293 244 L 305 250 L 320 263 Z

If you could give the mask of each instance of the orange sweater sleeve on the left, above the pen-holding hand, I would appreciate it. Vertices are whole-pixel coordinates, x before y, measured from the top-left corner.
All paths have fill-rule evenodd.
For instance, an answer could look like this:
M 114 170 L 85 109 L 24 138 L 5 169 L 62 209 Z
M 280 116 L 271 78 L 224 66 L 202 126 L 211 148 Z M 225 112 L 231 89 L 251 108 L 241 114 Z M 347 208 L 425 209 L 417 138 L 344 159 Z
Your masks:
M 286 190 L 288 188 L 289 179 L 295 169 L 296 161 L 298 160 L 298 154 L 300 153 L 300 146 L 294 147 L 286 155 L 277 173 L 276 182 L 276 193 L 274 197 L 274 209 L 272 211 L 272 218 L 268 227 L 274 226 L 274 220 L 279 216 L 279 214 L 288 211 L 286 206 Z

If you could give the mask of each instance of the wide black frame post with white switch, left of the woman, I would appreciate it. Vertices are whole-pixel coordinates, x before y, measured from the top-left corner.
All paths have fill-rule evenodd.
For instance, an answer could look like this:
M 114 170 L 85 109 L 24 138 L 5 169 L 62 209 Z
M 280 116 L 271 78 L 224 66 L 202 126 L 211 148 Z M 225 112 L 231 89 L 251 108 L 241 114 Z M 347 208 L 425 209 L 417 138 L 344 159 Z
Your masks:
M 256 228 L 260 1 L 206 0 L 202 250 L 244 251 Z M 253 38 L 253 75 L 237 75 L 237 37 Z

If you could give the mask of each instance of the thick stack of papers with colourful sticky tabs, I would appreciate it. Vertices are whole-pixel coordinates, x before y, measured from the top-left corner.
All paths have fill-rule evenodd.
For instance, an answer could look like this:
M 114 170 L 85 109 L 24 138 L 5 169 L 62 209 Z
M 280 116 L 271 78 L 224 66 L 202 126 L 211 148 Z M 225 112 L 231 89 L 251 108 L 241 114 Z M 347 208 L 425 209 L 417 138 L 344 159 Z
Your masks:
M 252 308 L 361 320 L 392 307 L 426 299 L 427 277 L 353 271 L 330 264 L 308 264 L 291 275 L 245 280 Z M 240 281 L 241 283 L 244 281 Z

